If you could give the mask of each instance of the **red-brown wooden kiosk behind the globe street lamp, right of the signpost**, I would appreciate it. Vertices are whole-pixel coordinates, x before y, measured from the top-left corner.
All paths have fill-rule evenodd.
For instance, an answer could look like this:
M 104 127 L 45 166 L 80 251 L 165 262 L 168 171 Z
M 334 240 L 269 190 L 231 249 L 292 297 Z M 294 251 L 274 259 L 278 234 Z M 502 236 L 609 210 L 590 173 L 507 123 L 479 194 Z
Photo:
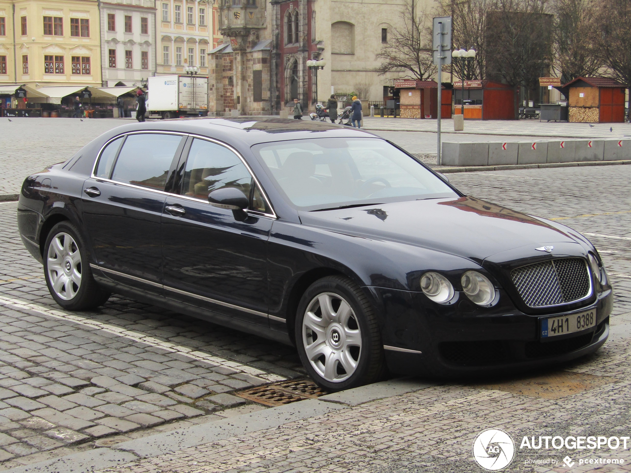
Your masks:
M 514 120 L 515 92 L 506 84 L 492 81 L 454 82 L 454 115 L 460 115 L 464 100 L 464 118 L 473 120 Z

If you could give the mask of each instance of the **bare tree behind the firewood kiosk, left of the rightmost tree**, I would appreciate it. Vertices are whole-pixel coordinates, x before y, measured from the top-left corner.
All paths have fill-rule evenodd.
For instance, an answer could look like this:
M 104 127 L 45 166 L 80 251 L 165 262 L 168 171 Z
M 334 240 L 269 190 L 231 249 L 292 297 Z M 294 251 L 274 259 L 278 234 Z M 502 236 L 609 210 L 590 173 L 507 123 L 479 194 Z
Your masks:
M 598 45 L 598 8 L 594 0 L 557 0 L 554 56 L 563 83 L 593 76 L 603 66 Z

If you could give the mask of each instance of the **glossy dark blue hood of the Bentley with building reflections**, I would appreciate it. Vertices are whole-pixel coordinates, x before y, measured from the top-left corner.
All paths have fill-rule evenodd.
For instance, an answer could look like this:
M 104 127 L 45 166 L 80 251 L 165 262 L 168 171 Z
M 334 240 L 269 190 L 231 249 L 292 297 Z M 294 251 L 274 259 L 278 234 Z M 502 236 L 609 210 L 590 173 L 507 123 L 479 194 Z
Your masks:
M 578 243 L 544 220 L 475 197 L 300 212 L 303 225 L 407 243 L 480 263 L 512 248 Z

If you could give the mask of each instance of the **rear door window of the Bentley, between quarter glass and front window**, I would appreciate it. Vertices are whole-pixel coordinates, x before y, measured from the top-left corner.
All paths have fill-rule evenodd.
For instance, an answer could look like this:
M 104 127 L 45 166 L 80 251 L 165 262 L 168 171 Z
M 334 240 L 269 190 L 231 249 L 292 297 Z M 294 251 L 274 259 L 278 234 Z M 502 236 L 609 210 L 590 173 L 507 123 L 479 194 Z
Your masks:
M 158 133 L 127 136 L 116 160 L 112 180 L 164 190 L 180 141 L 181 136 Z

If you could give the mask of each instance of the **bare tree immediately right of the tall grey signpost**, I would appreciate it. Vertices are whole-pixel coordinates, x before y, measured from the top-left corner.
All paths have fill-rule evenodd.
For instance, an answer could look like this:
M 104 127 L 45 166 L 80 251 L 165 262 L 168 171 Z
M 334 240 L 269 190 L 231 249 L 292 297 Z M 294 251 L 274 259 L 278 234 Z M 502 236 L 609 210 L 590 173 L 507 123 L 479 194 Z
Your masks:
M 487 12 L 490 0 L 439 0 L 440 16 L 451 16 L 454 49 L 475 49 L 476 57 L 468 61 L 463 73 L 466 80 L 485 79 L 487 69 Z M 454 69 L 459 71 L 459 67 Z M 462 78 L 461 78 L 462 79 Z

